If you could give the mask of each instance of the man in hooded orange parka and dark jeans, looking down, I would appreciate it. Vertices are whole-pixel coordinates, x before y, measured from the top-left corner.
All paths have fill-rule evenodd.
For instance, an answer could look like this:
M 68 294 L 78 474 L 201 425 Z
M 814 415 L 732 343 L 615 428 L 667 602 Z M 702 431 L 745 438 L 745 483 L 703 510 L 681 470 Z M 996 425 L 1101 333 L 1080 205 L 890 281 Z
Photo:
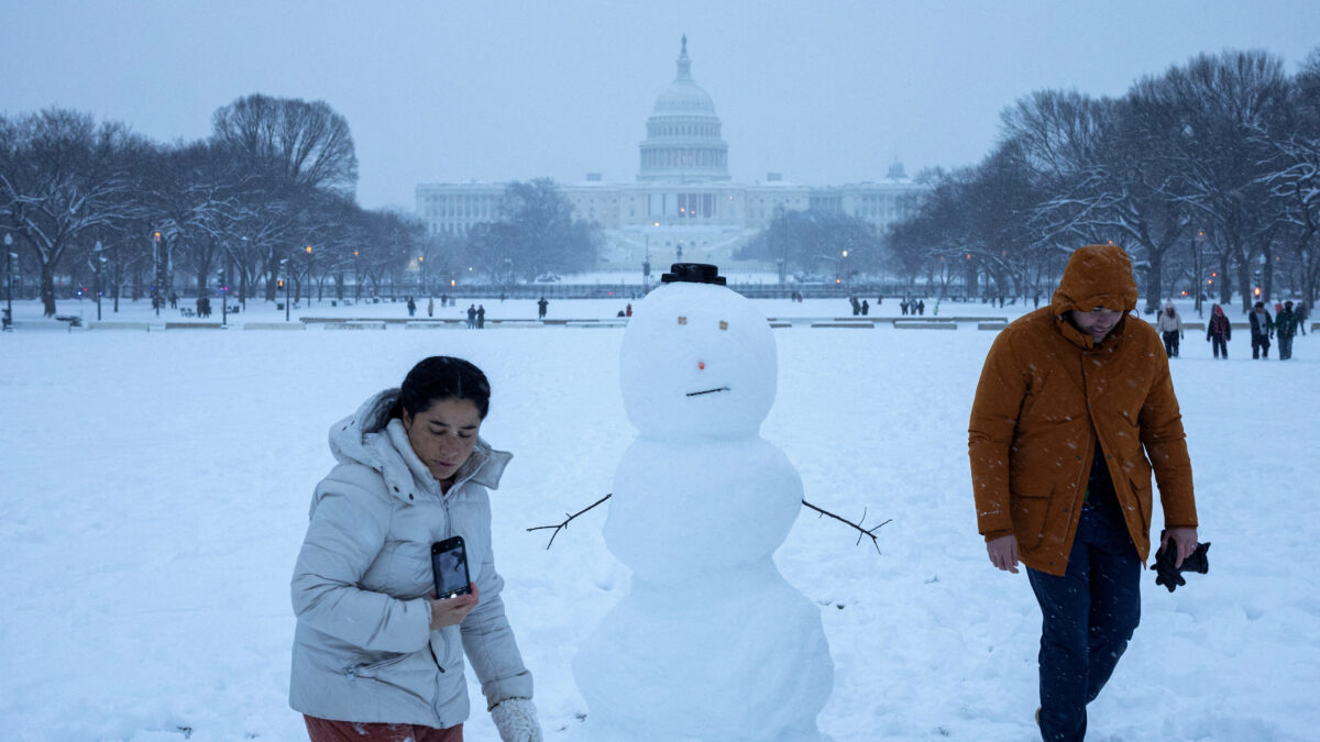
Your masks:
M 1082 739 L 1086 704 L 1140 618 L 1151 470 L 1162 548 L 1196 549 L 1196 502 L 1168 356 L 1137 306 L 1131 261 L 1111 244 L 1073 252 L 1049 306 L 1008 325 L 972 405 L 977 527 L 990 562 L 1040 603 L 1044 739 Z

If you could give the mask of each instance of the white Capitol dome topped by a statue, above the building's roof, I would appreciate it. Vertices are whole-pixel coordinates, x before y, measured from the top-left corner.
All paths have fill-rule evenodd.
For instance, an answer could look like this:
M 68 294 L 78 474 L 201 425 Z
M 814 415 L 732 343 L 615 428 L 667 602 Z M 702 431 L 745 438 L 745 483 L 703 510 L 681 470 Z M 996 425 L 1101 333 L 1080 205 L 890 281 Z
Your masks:
M 710 95 L 692 79 L 688 37 L 678 53 L 678 74 L 656 98 L 642 143 L 639 181 L 727 181 L 729 145 Z

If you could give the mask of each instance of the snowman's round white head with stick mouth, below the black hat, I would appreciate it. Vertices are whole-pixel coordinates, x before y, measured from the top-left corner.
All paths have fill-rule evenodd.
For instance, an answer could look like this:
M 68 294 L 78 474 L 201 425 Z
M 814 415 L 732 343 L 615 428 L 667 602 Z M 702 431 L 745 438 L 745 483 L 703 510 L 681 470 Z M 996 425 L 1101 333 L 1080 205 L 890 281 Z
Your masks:
M 645 436 L 755 436 L 775 403 L 775 335 L 750 301 L 714 284 L 651 292 L 628 321 L 619 386 Z

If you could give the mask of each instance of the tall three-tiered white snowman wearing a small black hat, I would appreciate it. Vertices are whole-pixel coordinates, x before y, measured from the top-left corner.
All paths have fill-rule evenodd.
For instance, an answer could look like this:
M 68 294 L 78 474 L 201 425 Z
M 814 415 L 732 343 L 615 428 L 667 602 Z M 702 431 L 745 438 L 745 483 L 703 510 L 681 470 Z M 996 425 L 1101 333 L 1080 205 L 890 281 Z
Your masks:
M 675 264 L 628 322 L 623 454 L 605 524 L 630 593 L 573 661 L 598 739 L 826 739 L 834 665 L 818 609 L 771 558 L 801 508 L 760 437 L 770 323 L 714 265 Z

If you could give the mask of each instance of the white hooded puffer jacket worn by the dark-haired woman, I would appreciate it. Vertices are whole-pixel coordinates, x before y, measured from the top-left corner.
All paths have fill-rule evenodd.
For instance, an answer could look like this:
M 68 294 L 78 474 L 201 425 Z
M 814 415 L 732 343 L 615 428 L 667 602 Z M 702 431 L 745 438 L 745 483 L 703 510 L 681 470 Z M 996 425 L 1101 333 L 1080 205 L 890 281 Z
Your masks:
M 504 617 L 487 487 L 512 458 L 479 440 L 454 485 L 440 485 L 389 413 L 399 389 L 330 429 L 339 465 L 317 485 L 293 570 L 289 705 L 356 722 L 444 729 L 467 718 L 463 654 L 487 708 L 531 698 L 532 675 Z M 461 627 L 430 631 L 430 545 L 462 536 L 480 602 Z

